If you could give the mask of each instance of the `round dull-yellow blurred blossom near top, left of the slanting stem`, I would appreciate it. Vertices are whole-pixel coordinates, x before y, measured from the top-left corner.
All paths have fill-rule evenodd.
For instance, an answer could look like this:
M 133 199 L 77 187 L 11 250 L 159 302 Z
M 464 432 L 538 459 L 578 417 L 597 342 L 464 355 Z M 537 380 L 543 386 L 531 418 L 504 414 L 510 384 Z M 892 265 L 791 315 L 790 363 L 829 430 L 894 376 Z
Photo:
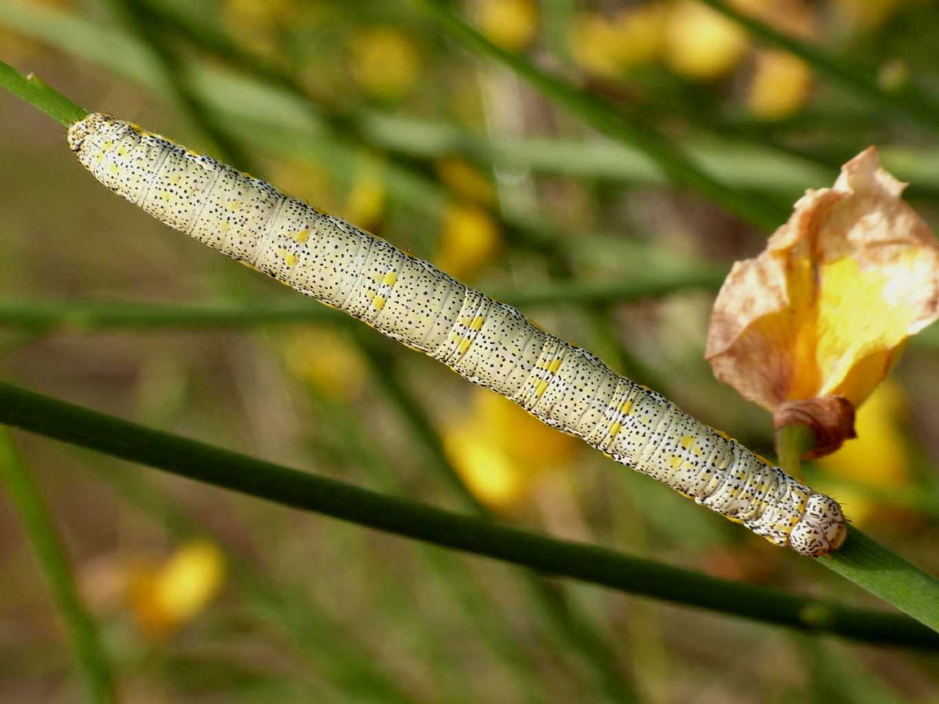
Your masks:
M 372 98 L 403 98 L 421 77 L 421 54 L 399 29 L 367 29 L 353 39 L 351 50 L 352 76 Z

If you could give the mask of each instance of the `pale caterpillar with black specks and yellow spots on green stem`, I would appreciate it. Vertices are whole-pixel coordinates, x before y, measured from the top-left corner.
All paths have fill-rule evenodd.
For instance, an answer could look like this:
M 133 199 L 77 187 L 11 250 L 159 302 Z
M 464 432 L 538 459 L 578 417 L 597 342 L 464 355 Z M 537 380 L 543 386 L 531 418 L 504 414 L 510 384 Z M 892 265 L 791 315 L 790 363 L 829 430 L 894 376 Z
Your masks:
M 512 306 L 338 218 L 111 115 L 69 128 L 105 186 L 155 218 L 507 396 L 771 543 L 819 557 L 839 504 Z

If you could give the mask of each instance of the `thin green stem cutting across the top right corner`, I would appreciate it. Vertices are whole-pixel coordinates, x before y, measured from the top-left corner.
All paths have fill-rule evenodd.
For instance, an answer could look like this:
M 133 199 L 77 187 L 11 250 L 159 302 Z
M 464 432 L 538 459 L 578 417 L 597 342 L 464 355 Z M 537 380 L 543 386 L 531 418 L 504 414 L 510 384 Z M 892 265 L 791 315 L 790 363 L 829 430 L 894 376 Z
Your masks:
M 725 0 L 702 0 L 721 14 L 740 23 L 755 37 L 780 49 L 795 54 L 819 73 L 844 86 L 854 95 L 866 99 L 877 110 L 906 115 L 928 130 L 935 130 L 939 125 L 939 103 L 935 99 L 919 93 L 913 87 L 897 92 L 886 92 L 864 73 L 842 64 L 837 58 L 816 49 L 800 39 L 777 32 L 768 24 L 751 17 L 746 12 L 732 8 Z

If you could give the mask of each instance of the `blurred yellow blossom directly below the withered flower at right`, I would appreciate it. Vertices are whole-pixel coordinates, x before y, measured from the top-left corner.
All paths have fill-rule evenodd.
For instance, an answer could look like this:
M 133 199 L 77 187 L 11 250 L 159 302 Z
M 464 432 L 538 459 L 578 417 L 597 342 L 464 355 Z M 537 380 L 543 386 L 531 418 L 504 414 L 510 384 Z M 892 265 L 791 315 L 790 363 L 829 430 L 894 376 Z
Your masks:
M 818 463 L 829 475 L 862 487 L 890 490 L 909 486 L 913 480 L 901 432 L 906 405 L 901 386 L 887 379 L 857 412 L 857 439 L 845 443 L 839 451 L 822 457 Z M 814 482 L 824 491 L 823 478 Z M 852 491 L 839 484 L 831 486 L 845 515 L 863 525 L 879 512 L 881 505 L 863 491 Z

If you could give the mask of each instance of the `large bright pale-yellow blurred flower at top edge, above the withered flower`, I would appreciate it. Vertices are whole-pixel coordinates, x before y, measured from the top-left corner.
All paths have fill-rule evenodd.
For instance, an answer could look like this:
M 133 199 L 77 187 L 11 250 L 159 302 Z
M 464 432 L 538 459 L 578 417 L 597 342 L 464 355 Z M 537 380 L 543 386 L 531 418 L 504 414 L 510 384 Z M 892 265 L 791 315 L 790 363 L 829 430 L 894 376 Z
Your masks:
M 671 69 L 697 81 L 721 78 L 747 53 L 740 24 L 696 0 L 679 0 L 666 26 L 665 59 Z

